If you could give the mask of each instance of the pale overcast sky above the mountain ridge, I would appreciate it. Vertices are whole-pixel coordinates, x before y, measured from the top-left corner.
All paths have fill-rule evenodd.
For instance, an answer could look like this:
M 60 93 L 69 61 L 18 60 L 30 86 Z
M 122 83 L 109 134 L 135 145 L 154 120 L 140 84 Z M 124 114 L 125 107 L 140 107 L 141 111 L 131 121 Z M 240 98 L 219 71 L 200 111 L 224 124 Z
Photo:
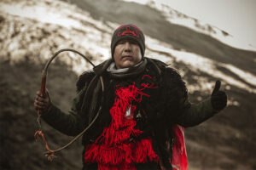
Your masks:
M 256 47 L 256 0 L 160 0 Z

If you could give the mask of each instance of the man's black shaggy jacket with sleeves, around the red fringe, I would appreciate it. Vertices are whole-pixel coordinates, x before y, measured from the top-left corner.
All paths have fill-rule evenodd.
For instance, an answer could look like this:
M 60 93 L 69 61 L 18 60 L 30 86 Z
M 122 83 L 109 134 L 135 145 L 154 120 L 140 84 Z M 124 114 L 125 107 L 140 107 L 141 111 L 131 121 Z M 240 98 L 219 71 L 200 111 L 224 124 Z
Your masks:
M 146 58 L 147 59 L 147 58 Z M 140 105 L 137 105 L 135 115 L 137 120 L 136 128 L 143 131 L 138 139 L 150 137 L 153 140 L 154 151 L 160 156 L 160 161 L 166 169 L 172 169 L 172 126 L 179 124 L 183 127 L 192 127 L 206 121 L 213 116 L 210 99 L 202 101 L 198 105 L 191 105 L 188 100 L 187 88 L 180 75 L 172 68 L 156 59 L 147 59 L 148 63 L 143 71 L 133 74 L 131 77 L 113 77 L 106 71 L 110 61 L 96 66 L 95 71 L 84 72 L 77 82 L 78 95 L 73 100 L 73 107 L 68 114 L 63 113 L 55 105 L 42 116 L 45 122 L 70 136 L 82 132 L 92 121 L 99 107 L 102 106 L 100 116 L 89 131 L 83 136 L 83 144 L 93 143 L 102 133 L 103 127 L 108 127 L 111 122 L 109 109 L 116 97 L 114 94 L 116 86 L 128 86 L 135 82 L 137 88 L 142 88 L 142 83 L 157 88 L 147 88 L 143 93 L 150 95 L 143 98 Z M 98 90 L 98 77 L 103 77 L 105 92 Z M 148 77 L 142 79 L 144 75 Z M 149 78 L 151 77 L 151 78 Z M 94 80 L 93 80 L 94 79 Z M 90 87 L 89 87 L 90 84 Z M 103 101 L 102 101 L 103 98 Z M 96 102 L 93 102 L 95 100 Z M 94 108 L 91 108 L 94 103 Z M 93 110 L 93 113 L 90 113 Z M 143 114 L 142 114 L 143 113 Z

